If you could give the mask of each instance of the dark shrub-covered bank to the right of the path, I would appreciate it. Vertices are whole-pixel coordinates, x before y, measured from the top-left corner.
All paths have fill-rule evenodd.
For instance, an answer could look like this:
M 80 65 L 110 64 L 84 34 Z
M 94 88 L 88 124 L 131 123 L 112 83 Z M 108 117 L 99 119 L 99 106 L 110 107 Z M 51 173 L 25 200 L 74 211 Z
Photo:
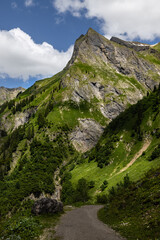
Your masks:
M 98 197 L 106 203 L 99 218 L 129 240 L 160 238 L 160 168 L 138 182 L 129 178 Z

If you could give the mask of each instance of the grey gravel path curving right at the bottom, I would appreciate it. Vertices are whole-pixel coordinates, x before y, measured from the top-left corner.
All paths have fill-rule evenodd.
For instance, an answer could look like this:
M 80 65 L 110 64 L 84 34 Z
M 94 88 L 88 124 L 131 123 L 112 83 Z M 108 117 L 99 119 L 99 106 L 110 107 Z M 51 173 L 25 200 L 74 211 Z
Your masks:
M 55 237 L 63 240 L 122 240 L 114 230 L 98 220 L 100 208 L 102 206 L 89 205 L 67 212 L 56 227 Z

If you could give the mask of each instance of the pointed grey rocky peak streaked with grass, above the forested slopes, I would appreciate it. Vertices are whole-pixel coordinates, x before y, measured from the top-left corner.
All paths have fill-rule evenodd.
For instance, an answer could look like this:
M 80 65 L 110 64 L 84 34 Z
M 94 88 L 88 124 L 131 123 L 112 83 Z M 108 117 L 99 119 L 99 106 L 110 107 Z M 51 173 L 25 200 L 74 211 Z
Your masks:
M 127 42 L 119 41 L 109 41 L 89 29 L 76 41 L 73 56 L 62 72 L 37 81 L 16 100 L 34 96 L 23 114 L 16 111 L 11 120 L 5 117 L 5 123 L 2 118 L 5 130 L 28 122 L 53 95 L 55 107 L 47 119 L 52 122 L 55 118 L 56 125 L 65 123 L 73 129 L 69 138 L 77 151 L 90 150 L 106 124 L 160 82 L 159 51 L 134 42 L 128 47 Z

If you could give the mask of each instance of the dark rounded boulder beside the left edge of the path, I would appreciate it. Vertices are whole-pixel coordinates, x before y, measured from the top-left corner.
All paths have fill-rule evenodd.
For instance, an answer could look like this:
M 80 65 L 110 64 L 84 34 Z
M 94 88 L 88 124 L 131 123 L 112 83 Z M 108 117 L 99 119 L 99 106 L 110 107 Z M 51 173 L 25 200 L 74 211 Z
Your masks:
M 54 214 L 62 211 L 63 211 L 62 202 L 58 202 L 55 199 L 42 198 L 34 203 L 31 212 L 35 215 L 40 215 L 48 213 Z

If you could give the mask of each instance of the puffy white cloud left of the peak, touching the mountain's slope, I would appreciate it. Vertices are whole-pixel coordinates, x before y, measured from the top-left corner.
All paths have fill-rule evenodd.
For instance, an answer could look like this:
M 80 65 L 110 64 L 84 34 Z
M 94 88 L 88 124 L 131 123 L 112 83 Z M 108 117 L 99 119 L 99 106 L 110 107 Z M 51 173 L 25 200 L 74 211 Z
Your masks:
M 50 44 L 36 44 L 31 37 L 16 28 L 0 31 L 0 77 L 21 78 L 48 77 L 62 70 L 70 59 L 71 46 L 59 52 Z

